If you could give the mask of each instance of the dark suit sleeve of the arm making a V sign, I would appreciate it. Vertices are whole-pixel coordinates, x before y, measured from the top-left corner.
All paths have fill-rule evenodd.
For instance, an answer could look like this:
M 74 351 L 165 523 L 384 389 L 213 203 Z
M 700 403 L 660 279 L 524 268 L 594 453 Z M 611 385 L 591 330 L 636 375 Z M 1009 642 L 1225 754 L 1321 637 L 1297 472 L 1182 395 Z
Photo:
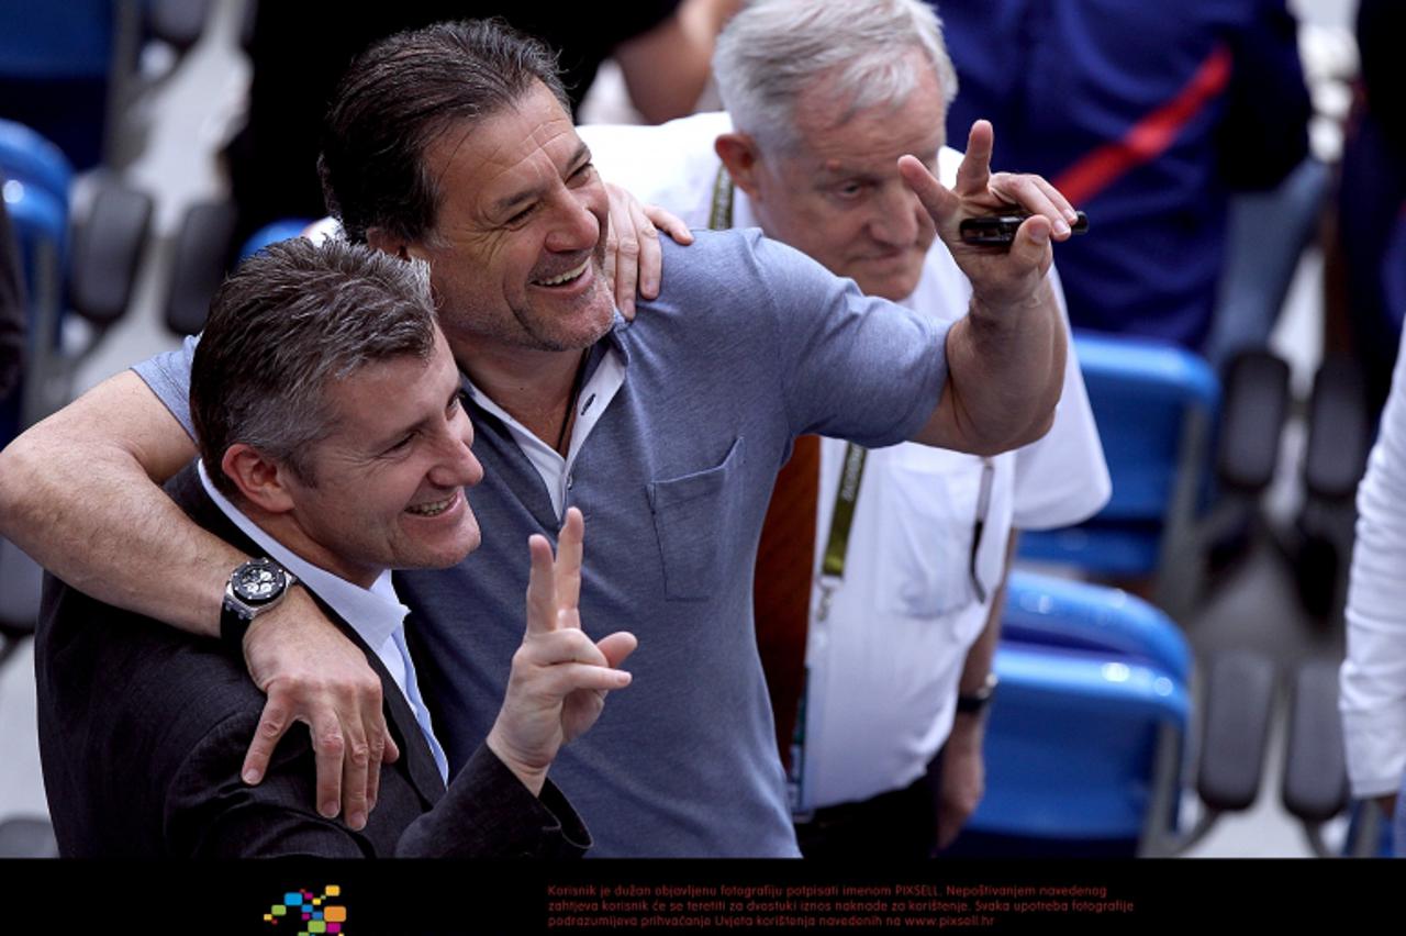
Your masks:
M 370 824 L 353 832 L 315 810 L 315 767 L 301 727 L 280 742 L 257 786 L 239 779 L 256 717 L 231 717 L 176 773 L 166 838 L 193 857 L 579 857 L 589 846 L 579 817 L 551 784 L 538 800 L 486 748 L 479 748 L 427 812 L 394 766 L 381 774 Z

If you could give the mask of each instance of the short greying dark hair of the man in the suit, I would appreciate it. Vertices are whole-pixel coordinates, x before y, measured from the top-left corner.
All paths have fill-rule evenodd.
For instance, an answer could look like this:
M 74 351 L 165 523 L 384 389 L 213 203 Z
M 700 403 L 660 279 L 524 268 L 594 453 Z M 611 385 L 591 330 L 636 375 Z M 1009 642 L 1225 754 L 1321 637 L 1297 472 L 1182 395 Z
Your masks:
M 315 485 L 311 448 L 336 429 L 328 384 L 433 350 L 423 261 L 340 240 L 264 247 L 219 287 L 195 347 L 190 416 L 205 471 L 236 498 L 221 461 L 245 443 Z

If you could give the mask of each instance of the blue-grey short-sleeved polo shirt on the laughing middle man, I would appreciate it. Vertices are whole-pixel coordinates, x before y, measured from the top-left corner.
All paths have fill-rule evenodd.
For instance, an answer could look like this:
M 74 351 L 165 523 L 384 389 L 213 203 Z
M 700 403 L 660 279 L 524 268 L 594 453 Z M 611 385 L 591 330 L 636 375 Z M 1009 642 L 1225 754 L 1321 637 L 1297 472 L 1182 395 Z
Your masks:
M 592 350 L 589 368 L 614 356 L 624 379 L 565 493 L 586 519 L 586 632 L 640 638 L 633 684 L 553 766 L 595 856 L 797 854 L 752 624 L 772 485 L 797 434 L 908 438 L 946 379 L 943 323 L 863 297 L 756 230 L 696 236 L 690 247 L 664 239 L 659 298 Z M 188 353 L 136 371 L 188 426 Z M 554 540 L 560 526 L 508 426 L 471 409 L 482 545 L 456 568 L 396 576 L 451 769 L 502 704 L 527 537 Z

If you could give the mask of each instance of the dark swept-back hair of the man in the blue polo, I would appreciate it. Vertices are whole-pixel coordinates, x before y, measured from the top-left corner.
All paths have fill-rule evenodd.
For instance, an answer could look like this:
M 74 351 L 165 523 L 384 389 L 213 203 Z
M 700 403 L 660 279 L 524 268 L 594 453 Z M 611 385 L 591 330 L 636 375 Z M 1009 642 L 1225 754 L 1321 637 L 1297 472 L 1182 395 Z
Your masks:
M 439 22 L 363 52 L 332 97 L 318 159 L 328 211 L 347 239 L 382 228 L 422 240 L 440 204 L 426 148 L 450 126 L 517 103 L 536 82 L 571 114 L 557 56 L 502 20 Z

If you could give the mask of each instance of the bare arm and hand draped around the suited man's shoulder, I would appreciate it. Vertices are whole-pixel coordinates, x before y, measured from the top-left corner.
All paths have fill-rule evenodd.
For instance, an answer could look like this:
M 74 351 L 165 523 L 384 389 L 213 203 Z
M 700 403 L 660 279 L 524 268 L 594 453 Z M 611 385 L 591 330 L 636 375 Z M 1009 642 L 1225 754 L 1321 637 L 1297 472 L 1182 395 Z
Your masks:
M 249 557 L 190 521 L 157 486 L 195 455 L 186 430 L 125 371 L 0 453 L 0 535 L 79 590 L 215 637 L 231 571 Z M 366 656 L 294 589 L 245 638 L 269 696 L 243 776 L 257 783 L 294 721 L 312 729 L 318 810 L 360 828 L 381 760 L 398 756 Z

